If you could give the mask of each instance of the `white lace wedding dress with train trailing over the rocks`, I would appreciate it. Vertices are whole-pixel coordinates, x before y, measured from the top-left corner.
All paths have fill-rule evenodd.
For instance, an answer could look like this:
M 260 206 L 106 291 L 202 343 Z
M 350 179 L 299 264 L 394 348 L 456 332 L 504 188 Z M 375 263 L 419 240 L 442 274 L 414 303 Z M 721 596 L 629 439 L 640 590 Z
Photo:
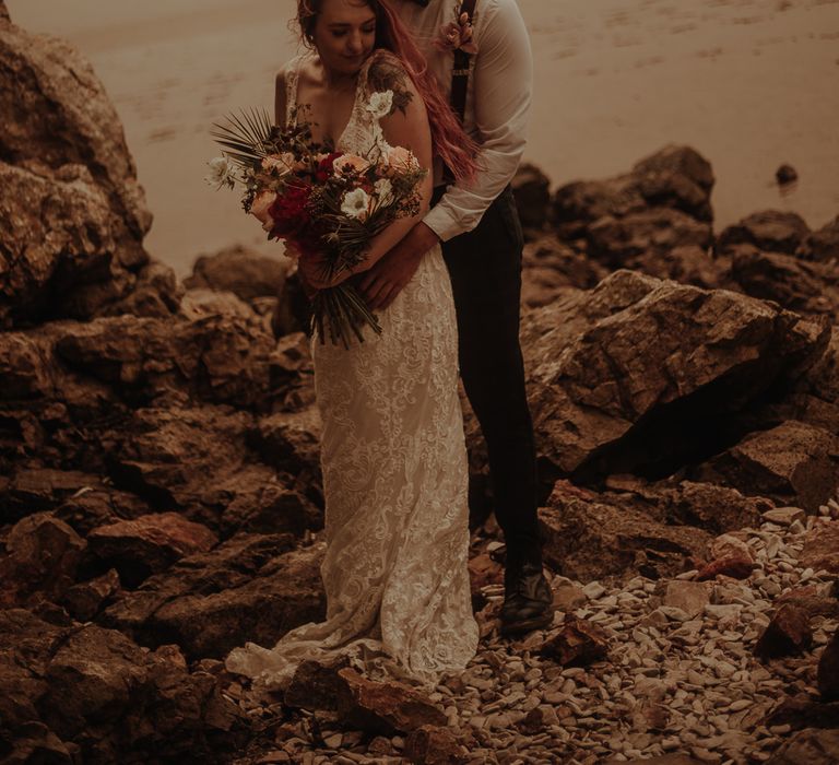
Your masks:
M 368 66 L 336 146 L 361 156 L 386 145 L 365 108 Z M 298 68 L 299 59 L 286 75 L 289 119 Z M 378 319 L 381 336 L 366 329 L 350 350 L 312 339 L 327 621 L 292 629 L 270 649 L 246 643 L 231 651 L 226 668 L 255 687 L 281 688 L 304 659 L 339 655 L 370 676 L 432 686 L 475 655 L 457 323 L 439 245 Z

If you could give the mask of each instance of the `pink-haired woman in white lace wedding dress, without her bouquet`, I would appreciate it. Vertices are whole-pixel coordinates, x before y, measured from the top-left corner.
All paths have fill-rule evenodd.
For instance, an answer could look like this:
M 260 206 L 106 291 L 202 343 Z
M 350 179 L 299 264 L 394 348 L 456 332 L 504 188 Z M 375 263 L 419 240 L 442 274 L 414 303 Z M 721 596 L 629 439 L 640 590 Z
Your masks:
M 476 146 L 387 0 L 298 0 L 297 20 L 309 50 L 277 75 L 277 123 L 305 114 L 315 139 L 338 151 L 364 157 L 374 146 L 402 146 L 429 169 L 420 214 L 379 234 L 363 271 L 427 211 L 433 155 L 469 178 Z M 387 99 L 388 92 L 390 114 L 377 119 L 370 97 Z M 297 108 L 304 104 L 308 113 Z M 329 286 L 317 268 L 303 275 L 312 289 Z M 382 333 L 367 329 L 348 350 L 312 338 L 327 619 L 292 629 L 272 648 L 246 643 L 231 651 L 226 668 L 255 687 L 283 687 L 304 659 L 340 655 L 433 686 L 475 655 L 457 322 L 439 245 L 378 319 Z

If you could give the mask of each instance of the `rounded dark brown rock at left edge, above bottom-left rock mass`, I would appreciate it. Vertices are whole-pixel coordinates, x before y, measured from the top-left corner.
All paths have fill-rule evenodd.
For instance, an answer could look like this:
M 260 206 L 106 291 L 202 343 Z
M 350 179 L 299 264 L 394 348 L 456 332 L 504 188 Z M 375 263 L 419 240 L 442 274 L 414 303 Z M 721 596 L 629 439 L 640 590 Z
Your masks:
M 24 604 L 35 592 L 60 598 L 75 580 L 85 546 L 85 540 L 49 513 L 17 521 L 5 539 L 7 555 L 0 557 L 0 603 Z

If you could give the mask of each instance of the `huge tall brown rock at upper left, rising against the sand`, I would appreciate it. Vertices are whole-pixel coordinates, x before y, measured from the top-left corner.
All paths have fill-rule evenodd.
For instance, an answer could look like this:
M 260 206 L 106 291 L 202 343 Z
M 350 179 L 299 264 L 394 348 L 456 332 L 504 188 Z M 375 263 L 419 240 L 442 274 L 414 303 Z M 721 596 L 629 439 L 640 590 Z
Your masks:
M 122 126 L 90 64 L 67 43 L 0 28 L 0 323 L 95 315 L 147 262 L 151 226 Z M 68 289 L 73 287 L 73 289 Z

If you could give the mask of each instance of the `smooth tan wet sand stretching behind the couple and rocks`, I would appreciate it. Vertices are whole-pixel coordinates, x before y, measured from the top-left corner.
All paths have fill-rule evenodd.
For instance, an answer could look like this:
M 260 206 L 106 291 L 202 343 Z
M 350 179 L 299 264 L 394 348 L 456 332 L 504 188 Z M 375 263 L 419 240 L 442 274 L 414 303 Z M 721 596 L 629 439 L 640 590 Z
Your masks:
M 628 169 L 666 143 L 713 164 L 716 227 L 766 208 L 811 226 L 839 214 L 839 0 L 520 0 L 536 93 L 525 160 L 555 185 Z M 7 0 L 12 20 L 67 37 L 126 127 L 155 223 L 146 245 L 189 272 L 240 242 L 265 254 L 237 196 L 202 178 L 211 122 L 272 108 L 294 55 L 293 0 Z M 800 174 L 781 193 L 781 163 Z

